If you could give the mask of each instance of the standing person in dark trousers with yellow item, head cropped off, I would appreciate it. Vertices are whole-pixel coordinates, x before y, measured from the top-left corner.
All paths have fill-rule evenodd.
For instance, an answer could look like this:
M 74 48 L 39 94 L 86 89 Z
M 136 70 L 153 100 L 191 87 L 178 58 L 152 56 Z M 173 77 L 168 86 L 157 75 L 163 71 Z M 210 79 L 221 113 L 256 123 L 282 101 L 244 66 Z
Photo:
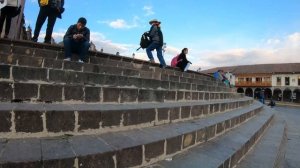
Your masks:
M 48 18 L 46 36 L 44 43 L 51 44 L 51 37 L 56 18 L 61 19 L 61 14 L 64 12 L 64 0 L 38 0 L 40 11 L 36 19 L 34 34 L 32 41 L 37 42 L 41 28 Z

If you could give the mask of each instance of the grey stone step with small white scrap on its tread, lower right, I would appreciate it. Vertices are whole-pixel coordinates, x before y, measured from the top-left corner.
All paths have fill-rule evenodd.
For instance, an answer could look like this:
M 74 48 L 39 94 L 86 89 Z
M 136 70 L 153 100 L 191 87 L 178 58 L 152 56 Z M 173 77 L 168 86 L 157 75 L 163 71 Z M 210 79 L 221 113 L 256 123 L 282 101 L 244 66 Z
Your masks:
M 227 168 L 235 167 L 239 160 L 263 135 L 274 118 L 274 112 L 264 107 L 249 122 L 173 158 L 156 163 L 152 168 Z

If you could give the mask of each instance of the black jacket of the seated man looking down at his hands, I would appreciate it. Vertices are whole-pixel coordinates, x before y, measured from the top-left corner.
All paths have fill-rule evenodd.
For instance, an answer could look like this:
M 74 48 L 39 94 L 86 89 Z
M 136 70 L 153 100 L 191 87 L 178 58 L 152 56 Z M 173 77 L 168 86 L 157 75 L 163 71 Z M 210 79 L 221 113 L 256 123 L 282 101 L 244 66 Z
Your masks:
M 73 39 L 74 34 L 82 34 L 83 38 L 81 39 L 81 41 L 90 42 L 90 29 L 89 28 L 84 27 L 84 28 L 78 30 L 76 24 L 71 25 L 68 28 L 68 31 L 66 32 L 66 34 L 64 36 L 64 39 L 65 38 Z

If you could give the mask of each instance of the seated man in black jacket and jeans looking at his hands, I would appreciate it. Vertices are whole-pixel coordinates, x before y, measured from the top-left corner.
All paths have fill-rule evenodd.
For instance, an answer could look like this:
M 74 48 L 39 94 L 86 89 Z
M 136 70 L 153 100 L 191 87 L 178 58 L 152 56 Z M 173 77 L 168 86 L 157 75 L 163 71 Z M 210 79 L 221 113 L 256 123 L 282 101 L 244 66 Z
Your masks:
M 83 63 L 90 48 L 90 30 L 86 27 L 87 20 L 79 18 L 77 24 L 71 25 L 64 36 L 65 61 L 71 61 L 72 52 L 79 54 L 79 61 Z

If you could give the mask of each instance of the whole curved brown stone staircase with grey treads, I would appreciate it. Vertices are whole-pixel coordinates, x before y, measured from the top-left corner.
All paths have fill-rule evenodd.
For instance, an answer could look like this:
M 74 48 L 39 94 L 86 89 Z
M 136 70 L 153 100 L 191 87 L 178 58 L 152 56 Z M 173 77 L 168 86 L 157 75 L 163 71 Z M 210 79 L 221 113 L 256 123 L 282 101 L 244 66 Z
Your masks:
M 221 150 L 215 141 L 228 152 L 203 167 L 234 167 L 274 120 L 206 74 L 63 55 L 56 45 L 0 40 L 1 168 L 168 167 L 163 160 L 181 153 Z

